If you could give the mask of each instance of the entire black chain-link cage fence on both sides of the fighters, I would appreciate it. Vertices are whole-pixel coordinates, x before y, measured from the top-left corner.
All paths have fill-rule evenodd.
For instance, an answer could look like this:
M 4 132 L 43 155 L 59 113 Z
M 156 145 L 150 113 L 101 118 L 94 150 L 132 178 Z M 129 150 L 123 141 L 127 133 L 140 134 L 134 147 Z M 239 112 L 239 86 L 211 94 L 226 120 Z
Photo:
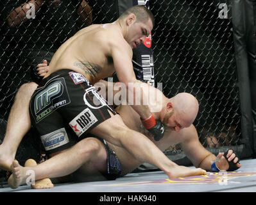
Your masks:
M 28 4 L 31 3 L 31 4 Z M 204 147 L 241 145 L 239 90 L 232 22 L 221 12 L 225 1 L 150 1 L 155 81 L 172 97 L 189 92 L 200 102 L 194 122 Z M 7 120 L 15 94 L 37 80 L 36 65 L 79 29 L 113 22 L 117 1 L 1 1 L 0 115 Z M 30 11 L 28 11 L 30 10 Z M 25 12 L 24 12 L 25 11 Z M 26 16 L 26 17 L 25 17 Z M 3 120 L 2 120 L 3 122 Z M 242 140 L 243 141 L 243 140 Z M 166 154 L 180 154 L 178 145 Z

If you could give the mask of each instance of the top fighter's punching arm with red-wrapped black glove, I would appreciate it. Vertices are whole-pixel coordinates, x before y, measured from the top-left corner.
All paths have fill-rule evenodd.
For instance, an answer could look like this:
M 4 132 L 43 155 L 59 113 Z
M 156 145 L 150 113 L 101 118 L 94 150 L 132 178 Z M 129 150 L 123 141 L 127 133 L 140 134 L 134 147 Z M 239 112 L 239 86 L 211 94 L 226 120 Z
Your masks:
M 126 101 L 141 116 L 143 126 L 155 136 L 155 140 L 160 140 L 164 136 L 164 126 L 160 120 L 155 120 L 149 111 L 142 82 L 135 77 L 132 65 L 132 48 L 124 40 L 118 41 L 115 38 L 114 42 L 110 44 L 110 54 L 117 78 L 126 87 Z

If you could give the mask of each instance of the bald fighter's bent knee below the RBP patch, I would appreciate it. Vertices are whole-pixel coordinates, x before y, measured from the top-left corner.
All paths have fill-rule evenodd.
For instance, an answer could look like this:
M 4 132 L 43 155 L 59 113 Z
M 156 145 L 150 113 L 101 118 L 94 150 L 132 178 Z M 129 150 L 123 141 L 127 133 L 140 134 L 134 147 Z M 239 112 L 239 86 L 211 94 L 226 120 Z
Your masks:
M 101 148 L 101 142 L 96 138 L 85 138 L 78 142 L 78 150 L 80 151 L 80 154 L 86 155 L 86 156 L 95 156 L 100 148 Z

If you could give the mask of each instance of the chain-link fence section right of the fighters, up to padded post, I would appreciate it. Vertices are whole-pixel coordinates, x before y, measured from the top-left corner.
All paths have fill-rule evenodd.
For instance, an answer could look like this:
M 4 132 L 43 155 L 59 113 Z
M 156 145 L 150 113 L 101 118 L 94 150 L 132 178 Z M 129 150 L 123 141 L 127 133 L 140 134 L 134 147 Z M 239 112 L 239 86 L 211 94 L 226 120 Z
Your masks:
M 200 102 L 194 126 L 200 142 L 216 154 L 241 144 L 239 89 L 230 3 L 154 1 L 155 76 L 165 95 L 189 92 Z M 226 12 L 226 13 L 225 13 Z M 170 147 L 178 153 L 179 147 Z M 170 152 L 168 152 L 170 153 Z

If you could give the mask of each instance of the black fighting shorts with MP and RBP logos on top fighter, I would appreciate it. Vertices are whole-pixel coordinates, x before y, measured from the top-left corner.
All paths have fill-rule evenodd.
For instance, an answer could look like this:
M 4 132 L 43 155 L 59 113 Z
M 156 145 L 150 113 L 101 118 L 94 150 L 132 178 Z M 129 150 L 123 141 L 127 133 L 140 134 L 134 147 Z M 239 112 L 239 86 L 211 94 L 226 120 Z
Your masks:
M 115 115 L 96 88 L 72 70 L 58 70 L 43 79 L 30 101 L 31 124 L 47 154 L 85 138 L 91 129 L 110 118 L 108 110 Z

